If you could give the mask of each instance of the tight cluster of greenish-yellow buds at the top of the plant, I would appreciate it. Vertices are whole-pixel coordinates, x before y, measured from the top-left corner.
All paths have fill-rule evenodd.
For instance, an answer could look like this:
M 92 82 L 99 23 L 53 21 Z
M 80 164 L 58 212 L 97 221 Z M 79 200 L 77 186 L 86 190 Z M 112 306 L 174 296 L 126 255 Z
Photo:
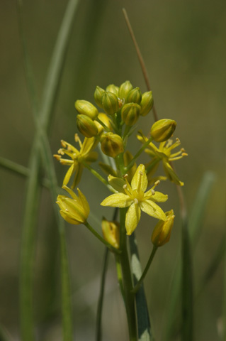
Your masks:
M 123 153 L 132 126 L 152 109 L 152 92 L 142 94 L 139 87 L 132 87 L 127 80 L 120 87 L 113 84 L 106 90 L 96 87 L 94 99 L 103 112 L 88 101 L 75 102 L 77 128 L 87 138 L 96 136 L 103 153 L 115 158 Z

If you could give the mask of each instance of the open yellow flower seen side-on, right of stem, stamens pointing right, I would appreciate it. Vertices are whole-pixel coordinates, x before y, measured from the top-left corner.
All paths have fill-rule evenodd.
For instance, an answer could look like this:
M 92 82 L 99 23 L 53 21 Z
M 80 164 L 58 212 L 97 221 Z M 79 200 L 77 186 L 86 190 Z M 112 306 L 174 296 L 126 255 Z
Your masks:
M 137 136 L 137 139 L 144 143 L 147 141 L 147 137 L 143 135 Z M 176 153 L 171 153 L 171 151 L 174 148 L 180 146 L 180 144 L 181 142 L 179 139 L 176 139 L 176 142 L 174 142 L 174 144 L 173 140 L 171 139 L 161 142 L 161 144 L 159 144 L 159 148 L 152 144 L 152 142 L 149 143 L 149 145 L 145 149 L 145 152 L 152 157 L 152 161 L 150 161 L 146 166 L 148 178 L 149 176 L 152 176 L 152 174 L 157 170 L 159 162 L 162 160 L 166 177 L 169 178 L 169 180 L 171 180 L 173 183 L 176 183 L 176 185 L 183 186 L 182 181 L 179 180 L 174 169 L 170 165 L 171 161 L 179 160 L 180 158 L 183 158 L 183 156 L 188 155 L 183 148 L 181 148 L 181 150 L 177 151 Z

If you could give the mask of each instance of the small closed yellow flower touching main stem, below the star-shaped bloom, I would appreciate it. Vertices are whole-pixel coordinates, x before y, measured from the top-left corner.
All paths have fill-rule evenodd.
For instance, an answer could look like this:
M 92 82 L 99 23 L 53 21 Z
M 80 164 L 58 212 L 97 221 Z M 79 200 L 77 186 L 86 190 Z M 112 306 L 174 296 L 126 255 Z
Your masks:
M 103 238 L 106 240 L 106 242 L 115 247 L 115 249 L 119 249 L 120 224 L 115 221 L 108 222 L 108 220 L 103 218 L 101 227 Z

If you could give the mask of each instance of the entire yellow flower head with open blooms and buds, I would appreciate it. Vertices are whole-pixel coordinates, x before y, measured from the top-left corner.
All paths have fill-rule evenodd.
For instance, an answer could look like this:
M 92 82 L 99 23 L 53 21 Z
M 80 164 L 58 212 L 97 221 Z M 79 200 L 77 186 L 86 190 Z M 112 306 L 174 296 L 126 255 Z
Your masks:
M 134 126 L 140 117 L 145 117 L 152 110 L 152 92 L 142 93 L 139 87 L 132 87 L 129 81 L 125 81 L 119 87 L 108 85 L 106 90 L 96 87 L 94 99 L 101 108 L 101 112 L 91 102 L 83 99 L 75 102 L 75 109 L 78 113 L 77 128 L 84 136 L 84 141 L 81 142 L 78 134 L 75 134 L 75 142 L 79 144 L 79 148 L 61 141 L 62 148 L 55 155 L 60 163 L 69 166 L 64 176 L 63 188 L 72 197 L 65 195 L 57 197 L 60 213 L 67 222 L 86 224 L 89 216 L 89 204 L 86 198 L 79 189 L 77 196 L 67 188 L 72 177 L 72 189 L 78 185 L 83 169 L 86 167 L 115 192 L 101 202 L 102 206 L 128 207 L 125 215 L 125 229 L 128 235 L 132 234 L 137 227 L 141 211 L 159 220 L 152 234 L 153 244 L 159 247 L 169 241 L 174 212 L 171 210 L 164 213 L 157 205 L 157 202 L 165 202 L 168 196 L 158 192 L 155 188 L 159 180 L 166 178 L 177 185 L 183 185 L 171 165 L 171 161 L 179 160 L 187 155 L 183 148 L 175 153 L 172 152 L 180 145 L 179 139 L 176 139 L 174 143 L 170 139 L 176 129 L 176 121 L 161 119 L 155 122 L 150 127 L 149 138 L 140 132 L 137 139 L 142 142 L 142 147 L 140 151 L 132 155 L 130 151 L 126 151 L 128 138 L 135 130 Z M 153 141 L 159 146 L 156 146 Z M 90 166 L 98 158 L 98 153 L 94 151 L 98 144 L 103 154 L 110 157 L 108 163 L 100 163 L 102 171 L 108 175 L 108 183 Z M 135 161 L 142 151 L 145 151 L 151 160 L 147 165 L 140 164 L 137 167 Z M 154 174 L 161 161 L 166 177 Z M 151 183 L 152 188 L 147 190 Z M 103 237 L 108 244 L 116 249 L 119 248 L 119 224 L 104 219 L 102 230 Z

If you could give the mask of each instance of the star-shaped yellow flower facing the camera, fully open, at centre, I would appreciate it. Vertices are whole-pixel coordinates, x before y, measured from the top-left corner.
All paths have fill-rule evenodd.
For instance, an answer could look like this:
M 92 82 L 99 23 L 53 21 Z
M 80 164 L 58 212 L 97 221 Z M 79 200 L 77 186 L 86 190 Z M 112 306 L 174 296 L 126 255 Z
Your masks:
M 131 185 L 128 183 L 126 176 L 125 180 L 110 176 L 108 177 L 108 181 L 119 193 L 106 197 L 106 199 L 101 202 L 101 205 L 129 207 L 125 216 L 125 229 L 128 235 L 132 234 L 137 227 L 141 210 L 154 218 L 166 220 L 166 215 L 162 208 L 155 202 L 166 201 L 168 195 L 154 191 L 154 188 L 158 185 L 159 181 L 145 193 L 145 190 L 147 189 L 147 175 L 145 173 L 144 165 L 137 167 L 137 171 L 132 177 Z

